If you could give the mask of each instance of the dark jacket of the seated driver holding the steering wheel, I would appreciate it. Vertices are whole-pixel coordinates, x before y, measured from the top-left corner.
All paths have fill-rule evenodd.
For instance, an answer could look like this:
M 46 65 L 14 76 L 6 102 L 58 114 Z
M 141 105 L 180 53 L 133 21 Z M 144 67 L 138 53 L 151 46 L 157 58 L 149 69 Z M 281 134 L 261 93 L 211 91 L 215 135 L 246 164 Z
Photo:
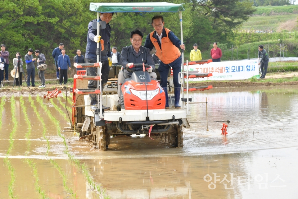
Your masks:
M 124 47 L 121 51 L 121 59 L 120 60 L 121 60 L 120 63 L 123 66 L 123 68 L 125 68 L 126 64 L 128 64 L 128 63 L 142 63 L 142 62 L 144 62 L 145 64 L 148 64 L 149 66 L 151 66 L 153 68 L 152 71 L 154 71 L 154 69 L 155 69 L 155 63 L 154 63 L 152 56 L 150 54 L 150 50 L 145 48 L 144 46 L 140 47 L 140 51 L 138 52 L 138 55 L 134 51 L 132 45 Z M 132 70 L 143 71 L 143 68 L 133 67 Z M 124 70 L 124 72 L 129 76 L 131 75 L 131 73 L 128 72 L 127 70 Z

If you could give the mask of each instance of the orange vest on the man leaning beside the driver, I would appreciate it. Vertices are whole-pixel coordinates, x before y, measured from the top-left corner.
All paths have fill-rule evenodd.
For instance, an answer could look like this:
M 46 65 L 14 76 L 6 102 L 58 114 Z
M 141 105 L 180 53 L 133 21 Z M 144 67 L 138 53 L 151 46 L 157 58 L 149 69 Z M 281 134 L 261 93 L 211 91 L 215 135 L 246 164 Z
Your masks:
M 168 37 L 170 31 L 171 30 L 165 28 L 166 37 L 164 37 L 163 35 L 163 37 L 161 38 L 161 49 L 159 47 L 157 39 L 153 37 L 153 33 L 155 31 L 150 33 L 150 40 L 156 49 L 156 55 L 165 64 L 174 62 L 181 55 L 179 49 L 174 46 L 174 44 Z

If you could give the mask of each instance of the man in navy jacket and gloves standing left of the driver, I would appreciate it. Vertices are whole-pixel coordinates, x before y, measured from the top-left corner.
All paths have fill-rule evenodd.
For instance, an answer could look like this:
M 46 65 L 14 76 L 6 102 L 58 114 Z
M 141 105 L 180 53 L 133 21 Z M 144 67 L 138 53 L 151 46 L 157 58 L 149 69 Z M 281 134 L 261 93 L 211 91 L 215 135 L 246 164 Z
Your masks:
M 86 55 L 85 62 L 86 63 L 96 63 L 97 62 L 97 43 L 100 42 L 101 39 L 104 41 L 104 49 L 101 49 L 101 63 L 102 63 L 102 90 L 105 86 L 106 82 L 109 78 L 110 67 L 112 65 L 111 58 L 111 46 L 110 46 L 110 38 L 111 38 L 111 26 L 109 22 L 112 19 L 114 12 L 111 13 L 100 13 L 99 21 L 106 21 L 106 28 L 101 30 L 101 38 L 97 36 L 97 30 L 92 29 L 92 22 L 97 21 L 96 19 L 90 21 L 88 24 L 88 35 L 87 35 L 87 47 L 86 47 Z M 97 76 L 97 68 L 95 67 L 86 67 L 88 76 Z M 97 81 L 89 80 L 88 89 L 96 89 Z M 101 92 L 102 92 L 101 90 Z M 90 105 L 92 110 L 97 109 L 97 94 L 89 94 Z M 110 110 L 110 107 L 102 106 L 103 110 Z

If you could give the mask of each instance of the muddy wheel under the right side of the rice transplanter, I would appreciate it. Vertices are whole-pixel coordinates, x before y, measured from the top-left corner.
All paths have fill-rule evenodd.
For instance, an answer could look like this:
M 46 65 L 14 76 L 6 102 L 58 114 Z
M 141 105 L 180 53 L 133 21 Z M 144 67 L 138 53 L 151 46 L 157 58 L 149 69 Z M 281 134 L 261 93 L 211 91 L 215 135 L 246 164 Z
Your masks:
M 161 142 L 169 147 L 183 147 L 183 131 L 181 125 L 172 125 L 168 132 L 161 133 Z

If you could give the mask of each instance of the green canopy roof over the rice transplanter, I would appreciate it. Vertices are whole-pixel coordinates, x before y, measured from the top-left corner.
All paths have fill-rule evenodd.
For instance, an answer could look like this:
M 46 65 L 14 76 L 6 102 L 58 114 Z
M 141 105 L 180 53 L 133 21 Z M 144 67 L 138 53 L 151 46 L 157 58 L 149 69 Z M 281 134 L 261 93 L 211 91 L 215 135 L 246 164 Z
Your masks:
M 179 12 L 184 11 L 181 4 L 167 2 L 144 3 L 90 3 L 95 12 Z

